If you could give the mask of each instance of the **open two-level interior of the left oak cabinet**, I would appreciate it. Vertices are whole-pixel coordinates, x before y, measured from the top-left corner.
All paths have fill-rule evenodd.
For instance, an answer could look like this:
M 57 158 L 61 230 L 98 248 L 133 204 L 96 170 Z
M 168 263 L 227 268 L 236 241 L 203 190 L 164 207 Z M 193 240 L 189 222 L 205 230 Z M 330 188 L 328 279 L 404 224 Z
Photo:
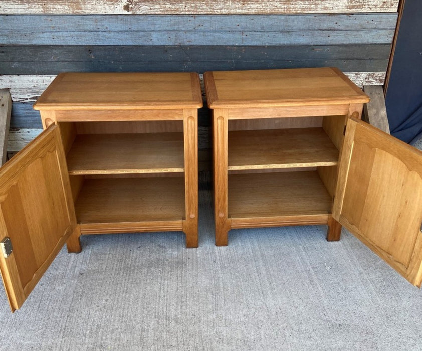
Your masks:
M 185 217 L 183 121 L 58 124 L 82 232 Z

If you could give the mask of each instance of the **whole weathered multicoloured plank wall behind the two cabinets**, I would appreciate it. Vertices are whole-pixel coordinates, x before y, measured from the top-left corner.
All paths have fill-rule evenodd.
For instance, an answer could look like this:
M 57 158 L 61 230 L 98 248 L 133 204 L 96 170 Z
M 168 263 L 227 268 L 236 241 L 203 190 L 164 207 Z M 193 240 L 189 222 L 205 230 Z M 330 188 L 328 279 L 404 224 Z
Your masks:
M 32 104 L 59 72 L 336 66 L 382 85 L 398 0 L 0 1 L 0 88 L 13 108 L 9 150 L 41 130 Z M 209 111 L 199 112 L 200 148 Z

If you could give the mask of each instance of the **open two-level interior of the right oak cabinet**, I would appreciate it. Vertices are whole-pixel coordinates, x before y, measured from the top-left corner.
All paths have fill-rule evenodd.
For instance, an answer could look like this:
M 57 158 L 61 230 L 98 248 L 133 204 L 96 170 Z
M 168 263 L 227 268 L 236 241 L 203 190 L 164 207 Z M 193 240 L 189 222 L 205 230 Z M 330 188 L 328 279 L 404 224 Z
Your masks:
M 326 221 L 345 122 L 346 116 L 229 120 L 229 217 Z

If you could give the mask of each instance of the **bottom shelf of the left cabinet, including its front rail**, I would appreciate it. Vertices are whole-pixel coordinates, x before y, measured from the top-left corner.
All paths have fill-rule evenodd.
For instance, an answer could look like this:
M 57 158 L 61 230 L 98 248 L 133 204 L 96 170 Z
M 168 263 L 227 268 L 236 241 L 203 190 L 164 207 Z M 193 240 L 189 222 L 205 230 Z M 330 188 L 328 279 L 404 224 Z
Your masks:
M 75 212 L 82 234 L 181 230 L 184 178 L 85 179 Z

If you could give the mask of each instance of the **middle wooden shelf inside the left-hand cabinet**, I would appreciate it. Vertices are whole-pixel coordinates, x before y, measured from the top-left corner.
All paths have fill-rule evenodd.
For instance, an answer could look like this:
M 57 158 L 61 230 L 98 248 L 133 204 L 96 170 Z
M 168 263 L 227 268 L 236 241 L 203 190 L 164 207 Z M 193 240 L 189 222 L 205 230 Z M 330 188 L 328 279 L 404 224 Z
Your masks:
M 80 134 L 67 155 L 69 174 L 184 171 L 183 133 Z

